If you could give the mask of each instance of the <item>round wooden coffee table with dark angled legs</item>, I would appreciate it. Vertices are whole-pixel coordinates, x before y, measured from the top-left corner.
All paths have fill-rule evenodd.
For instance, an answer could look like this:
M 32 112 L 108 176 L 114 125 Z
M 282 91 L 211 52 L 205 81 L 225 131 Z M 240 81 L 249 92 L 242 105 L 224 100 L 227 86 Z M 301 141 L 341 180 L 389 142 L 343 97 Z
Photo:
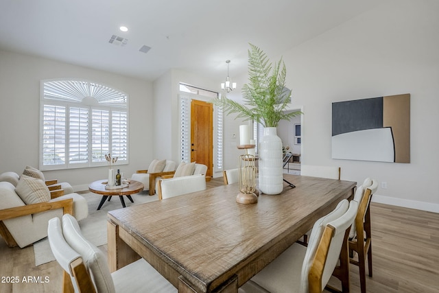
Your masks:
M 125 200 L 123 200 L 123 196 L 126 196 L 131 202 L 134 202 L 131 198 L 131 194 L 137 194 L 138 192 L 143 190 L 143 183 L 135 180 L 130 180 L 130 184 L 127 187 L 117 188 L 117 189 L 106 189 L 105 185 L 107 184 L 107 180 L 97 180 L 91 183 L 88 186 L 88 190 L 93 192 L 93 194 L 102 194 L 102 200 L 99 202 L 99 206 L 97 210 L 101 209 L 102 204 L 104 204 L 105 200 L 108 198 L 110 201 L 111 196 L 119 196 L 121 200 L 122 207 L 126 207 Z

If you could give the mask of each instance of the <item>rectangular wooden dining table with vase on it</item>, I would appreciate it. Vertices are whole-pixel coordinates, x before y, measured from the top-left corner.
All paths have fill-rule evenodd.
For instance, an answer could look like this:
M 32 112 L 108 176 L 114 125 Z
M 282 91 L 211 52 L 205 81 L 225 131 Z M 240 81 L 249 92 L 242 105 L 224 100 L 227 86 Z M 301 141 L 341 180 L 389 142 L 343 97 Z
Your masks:
M 352 198 L 355 182 L 284 174 L 281 194 L 240 204 L 238 185 L 108 212 L 113 272 L 143 257 L 178 292 L 237 292 L 254 274 Z M 141 278 L 142 272 L 133 272 Z

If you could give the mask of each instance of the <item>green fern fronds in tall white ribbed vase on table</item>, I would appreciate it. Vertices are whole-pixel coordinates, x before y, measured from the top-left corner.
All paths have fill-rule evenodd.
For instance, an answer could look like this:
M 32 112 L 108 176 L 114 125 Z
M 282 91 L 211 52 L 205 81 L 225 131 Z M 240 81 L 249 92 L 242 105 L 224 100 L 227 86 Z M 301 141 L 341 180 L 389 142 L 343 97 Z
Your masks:
M 291 120 L 300 111 L 285 113 L 291 102 L 291 90 L 285 87 L 287 69 L 282 58 L 274 65 L 259 47 L 248 50 L 248 84 L 244 84 L 244 104 L 222 97 L 215 104 L 227 114 L 237 114 L 244 121 L 254 120 L 264 127 L 259 141 L 259 190 L 280 194 L 283 190 L 282 141 L 276 135 L 281 120 Z

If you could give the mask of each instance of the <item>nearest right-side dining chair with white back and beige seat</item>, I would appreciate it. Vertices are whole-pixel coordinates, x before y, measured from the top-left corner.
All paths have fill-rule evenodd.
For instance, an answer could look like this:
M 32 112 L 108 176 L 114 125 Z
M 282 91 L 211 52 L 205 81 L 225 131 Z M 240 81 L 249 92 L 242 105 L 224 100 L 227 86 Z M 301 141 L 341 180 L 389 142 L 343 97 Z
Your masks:
M 241 293 L 322 292 L 340 260 L 342 287 L 348 290 L 348 234 L 357 214 L 354 200 L 342 200 L 313 226 L 308 247 L 294 243 L 239 288 Z M 347 286 L 347 288 L 346 288 Z

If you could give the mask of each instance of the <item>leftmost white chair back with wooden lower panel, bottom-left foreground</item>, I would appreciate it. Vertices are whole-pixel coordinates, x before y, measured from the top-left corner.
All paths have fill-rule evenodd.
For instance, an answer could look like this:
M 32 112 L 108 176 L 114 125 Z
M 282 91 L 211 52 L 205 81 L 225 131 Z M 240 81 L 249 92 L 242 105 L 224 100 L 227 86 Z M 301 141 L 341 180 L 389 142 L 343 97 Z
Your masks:
M 64 239 L 59 218 L 49 220 L 47 226 L 49 245 L 56 261 L 64 270 L 63 292 L 96 292 L 82 257 Z M 73 287 L 72 287 L 73 285 Z

